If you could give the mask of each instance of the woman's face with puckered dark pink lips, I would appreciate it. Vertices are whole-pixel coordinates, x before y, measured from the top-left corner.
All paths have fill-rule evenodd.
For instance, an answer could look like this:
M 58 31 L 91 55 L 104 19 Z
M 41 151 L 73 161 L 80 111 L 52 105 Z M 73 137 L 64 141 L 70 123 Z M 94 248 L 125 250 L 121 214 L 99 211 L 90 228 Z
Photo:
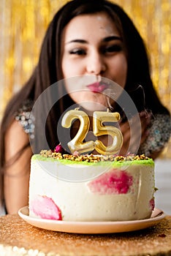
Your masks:
M 72 78 L 66 79 L 66 91 L 76 103 L 89 102 L 84 105 L 89 110 L 96 108 L 94 103 L 108 107 L 111 90 L 115 93 L 109 81 L 124 88 L 126 53 L 115 23 L 105 12 L 70 20 L 62 34 L 61 53 L 63 76 Z

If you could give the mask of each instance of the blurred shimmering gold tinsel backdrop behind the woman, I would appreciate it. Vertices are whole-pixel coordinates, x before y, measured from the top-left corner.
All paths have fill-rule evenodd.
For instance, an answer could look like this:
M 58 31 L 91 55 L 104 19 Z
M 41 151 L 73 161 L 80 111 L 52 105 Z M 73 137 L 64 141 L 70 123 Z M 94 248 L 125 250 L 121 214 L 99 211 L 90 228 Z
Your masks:
M 66 0 L 0 0 L 0 117 L 10 97 L 31 75 L 48 23 L 64 3 Z M 154 86 L 171 111 L 171 1 L 115 3 L 132 18 L 145 40 Z M 171 158 L 171 143 L 161 157 Z

